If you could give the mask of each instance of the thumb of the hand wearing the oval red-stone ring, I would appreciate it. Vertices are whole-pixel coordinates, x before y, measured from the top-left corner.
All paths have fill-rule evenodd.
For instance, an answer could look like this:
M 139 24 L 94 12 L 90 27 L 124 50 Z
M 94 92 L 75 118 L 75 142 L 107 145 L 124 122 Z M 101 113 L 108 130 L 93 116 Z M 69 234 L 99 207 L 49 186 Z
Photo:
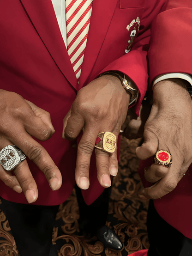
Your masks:
M 149 129 L 144 130 L 144 142 L 135 149 L 135 154 L 140 160 L 152 157 L 157 151 L 158 139 L 156 135 Z

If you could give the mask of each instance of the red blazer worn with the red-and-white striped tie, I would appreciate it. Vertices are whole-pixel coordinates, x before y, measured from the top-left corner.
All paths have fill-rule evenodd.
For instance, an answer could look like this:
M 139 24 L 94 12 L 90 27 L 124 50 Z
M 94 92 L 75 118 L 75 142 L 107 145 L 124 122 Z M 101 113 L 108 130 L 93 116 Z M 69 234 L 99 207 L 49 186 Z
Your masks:
M 35 204 L 57 205 L 65 201 L 75 185 L 76 149 L 61 138 L 63 118 L 77 91 L 99 73 L 119 70 L 138 86 L 140 103 L 147 89 L 146 54 L 150 24 L 165 0 L 93 0 L 92 15 L 79 84 L 60 33 L 51 0 L 0 1 L 0 88 L 14 91 L 51 114 L 55 134 L 40 142 L 59 167 L 63 183 L 52 191 L 42 172 L 29 159 L 28 164 L 39 190 Z M 140 29 L 125 53 L 134 20 Z M 130 24 L 130 29 L 126 26 Z M 137 27 L 138 29 L 138 27 Z M 102 193 L 97 181 L 94 155 L 90 166 L 90 188 L 82 191 L 87 204 Z M 9 201 L 27 203 L 0 182 L 0 195 Z

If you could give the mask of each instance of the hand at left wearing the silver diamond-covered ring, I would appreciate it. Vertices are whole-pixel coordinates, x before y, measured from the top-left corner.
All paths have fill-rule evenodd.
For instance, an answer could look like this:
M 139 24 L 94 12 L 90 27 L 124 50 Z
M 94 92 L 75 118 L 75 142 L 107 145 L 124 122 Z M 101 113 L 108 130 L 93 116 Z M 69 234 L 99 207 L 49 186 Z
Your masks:
M 47 111 L 17 93 L 0 90 L 0 150 L 7 145 L 18 146 L 44 173 L 51 189 L 57 190 L 62 182 L 60 171 L 48 152 L 31 137 L 44 141 L 53 134 Z M 26 159 L 13 171 L 6 171 L 0 165 L 0 179 L 16 192 L 23 191 L 29 203 L 36 201 L 38 189 Z

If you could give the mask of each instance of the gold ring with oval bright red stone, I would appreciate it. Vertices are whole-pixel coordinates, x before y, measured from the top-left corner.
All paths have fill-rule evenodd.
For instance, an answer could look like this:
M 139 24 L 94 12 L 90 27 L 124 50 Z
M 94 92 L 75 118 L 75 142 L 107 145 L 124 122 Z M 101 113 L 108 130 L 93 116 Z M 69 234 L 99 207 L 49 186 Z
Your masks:
M 172 165 L 172 160 L 173 158 L 169 151 L 160 149 L 155 153 L 153 163 L 169 168 Z

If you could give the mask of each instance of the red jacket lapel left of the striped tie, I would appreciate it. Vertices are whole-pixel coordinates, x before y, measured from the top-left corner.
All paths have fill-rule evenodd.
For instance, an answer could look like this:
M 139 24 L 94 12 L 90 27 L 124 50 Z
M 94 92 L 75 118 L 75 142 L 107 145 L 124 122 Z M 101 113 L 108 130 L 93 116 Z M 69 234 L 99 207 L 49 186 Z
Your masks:
M 78 84 L 51 0 L 20 0 L 60 71 L 77 90 Z

